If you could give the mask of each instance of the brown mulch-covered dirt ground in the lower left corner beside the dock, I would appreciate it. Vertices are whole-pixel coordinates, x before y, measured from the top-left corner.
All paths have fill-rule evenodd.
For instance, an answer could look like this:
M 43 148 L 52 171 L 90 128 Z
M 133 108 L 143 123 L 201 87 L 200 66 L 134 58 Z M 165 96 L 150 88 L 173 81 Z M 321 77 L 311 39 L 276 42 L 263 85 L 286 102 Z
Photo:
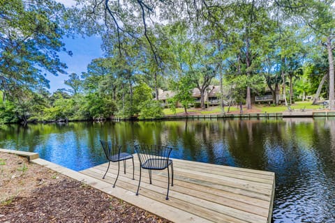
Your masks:
M 25 157 L 0 153 L 0 222 L 169 222 Z

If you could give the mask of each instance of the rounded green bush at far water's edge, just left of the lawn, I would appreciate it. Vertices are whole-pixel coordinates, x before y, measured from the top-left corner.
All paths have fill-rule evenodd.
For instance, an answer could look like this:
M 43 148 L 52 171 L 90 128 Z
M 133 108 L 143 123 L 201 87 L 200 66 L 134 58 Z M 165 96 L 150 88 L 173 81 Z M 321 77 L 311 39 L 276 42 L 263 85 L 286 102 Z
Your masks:
M 161 118 L 164 116 L 161 102 L 157 100 L 147 100 L 142 102 L 139 119 Z

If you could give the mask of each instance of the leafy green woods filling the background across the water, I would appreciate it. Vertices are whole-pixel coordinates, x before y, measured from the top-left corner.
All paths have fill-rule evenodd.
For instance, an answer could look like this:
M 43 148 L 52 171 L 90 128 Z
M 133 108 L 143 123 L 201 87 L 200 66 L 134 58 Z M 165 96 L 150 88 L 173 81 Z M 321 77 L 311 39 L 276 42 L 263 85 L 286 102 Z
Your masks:
M 192 89 L 243 103 L 312 95 L 334 110 L 334 0 L 0 0 L 0 124 L 159 118 L 158 90 L 185 111 Z M 100 36 L 103 58 L 66 73 L 62 38 Z M 67 74 L 50 93 L 46 74 Z

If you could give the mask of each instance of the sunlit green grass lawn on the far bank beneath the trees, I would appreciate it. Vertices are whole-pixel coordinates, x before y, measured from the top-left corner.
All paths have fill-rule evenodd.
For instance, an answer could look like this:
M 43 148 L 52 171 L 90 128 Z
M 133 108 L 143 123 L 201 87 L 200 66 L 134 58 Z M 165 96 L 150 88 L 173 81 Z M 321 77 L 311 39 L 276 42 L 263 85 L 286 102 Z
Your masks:
M 291 105 L 292 109 L 320 109 L 322 108 L 321 105 L 312 105 L 312 102 L 295 102 L 295 104 Z M 227 112 L 228 107 L 225 107 L 225 112 Z M 278 106 L 272 106 L 272 105 L 253 105 L 253 109 L 258 109 L 260 110 L 260 112 L 264 113 L 276 113 L 276 112 L 287 112 L 288 111 L 288 107 L 286 107 L 285 105 L 278 105 Z M 239 108 L 234 105 L 232 107 L 230 107 L 230 112 L 235 112 L 238 111 Z M 244 107 L 244 111 L 245 111 L 245 107 Z M 174 115 L 174 113 L 172 112 L 171 109 L 164 109 L 163 110 L 165 116 L 169 116 L 169 115 Z M 187 112 L 199 112 L 200 114 L 216 114 L 218 112 L 221 112 L 221 108 L 216 106 L 216 107 L 209 107 L 209 109 L 195 109 L 195 108 L 190 108 L 187 109 Z M 177 108 L 176 109 L 176 114 L 182 114 L 184 113 L 184 108 Z

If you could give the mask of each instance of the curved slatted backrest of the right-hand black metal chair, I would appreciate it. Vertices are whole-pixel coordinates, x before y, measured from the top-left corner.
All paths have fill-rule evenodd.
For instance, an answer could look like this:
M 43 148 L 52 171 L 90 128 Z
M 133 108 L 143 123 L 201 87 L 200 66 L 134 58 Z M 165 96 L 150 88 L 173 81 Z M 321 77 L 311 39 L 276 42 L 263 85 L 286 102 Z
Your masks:
M 168 163 L 172 147 L 161 145 L 135 145 L 135 152 L 138 155 L 141 165 L 147 160 L 156 160 L 156 167 L 165 166 Z

